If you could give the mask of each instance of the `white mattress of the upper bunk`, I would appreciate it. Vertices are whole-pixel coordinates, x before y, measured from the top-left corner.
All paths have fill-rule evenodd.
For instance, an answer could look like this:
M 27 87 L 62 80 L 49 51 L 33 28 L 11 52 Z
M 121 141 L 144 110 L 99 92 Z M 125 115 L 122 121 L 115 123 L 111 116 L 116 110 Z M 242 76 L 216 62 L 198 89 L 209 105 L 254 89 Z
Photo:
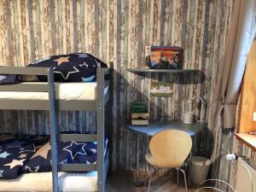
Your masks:
M 21 84 L 47 84 L 41 82 Z M 55 83 L 55 98 L 59 100 L 96 100 L 96 82 Z M 105 95 L 108 86 L 104 89 Z M 9 100 L 48 100 L 48 92 L 1 91 L 0 99 Z

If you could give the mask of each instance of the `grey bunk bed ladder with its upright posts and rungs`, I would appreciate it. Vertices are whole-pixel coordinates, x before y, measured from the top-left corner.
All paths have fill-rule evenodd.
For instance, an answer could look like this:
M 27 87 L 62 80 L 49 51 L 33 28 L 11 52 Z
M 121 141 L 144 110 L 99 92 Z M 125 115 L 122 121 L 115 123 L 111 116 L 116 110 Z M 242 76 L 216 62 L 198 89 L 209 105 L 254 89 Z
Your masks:
M 50 143 L 52 157 L 52 177 L 53 177 L 53 192 L 58 190 L 58 171 L 63 172 L 97 172 L 97 191 L 105 191 L 107 167 L 105 167 L 104 156 L 104 136 L 105 136 L 105 74 L 108 74 L 109 69 L 96 69 L 96 130 L 97 134 L 58 134 L 56 124 L 56 108 L 55 108 L 55 85 L 54 73 L 52 68 L 49 68 L 48 84 L 49 84 L 49 118 L 50 118 Z M 108 99 L 107 99 L 108 100 Z M 59 136 L 59 137 L 58 137 Z M 97 141 L 97 164 L 58 164 L 57 141 L 75 141 L 75 142 L 94 142 Z

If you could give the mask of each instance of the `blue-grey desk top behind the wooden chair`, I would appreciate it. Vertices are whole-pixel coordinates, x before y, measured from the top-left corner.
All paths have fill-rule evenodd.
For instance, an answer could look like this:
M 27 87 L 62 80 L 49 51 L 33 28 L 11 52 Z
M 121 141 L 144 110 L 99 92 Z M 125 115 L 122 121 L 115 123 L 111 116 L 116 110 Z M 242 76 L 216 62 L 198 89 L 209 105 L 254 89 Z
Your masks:
M 139 134 L 147 135 L 149 137 L 154 136 L 156 133 L 165 130 L 180 130 L 185 131 L 190 137 L 194 137 L 203 128 L 206 128 L 207 124 L 193 123 L 183 124 L 180 121 L 166 121 L 150 123 L 147 126 L 141 125 L 127 125 L 127 129 L 135 131 Z

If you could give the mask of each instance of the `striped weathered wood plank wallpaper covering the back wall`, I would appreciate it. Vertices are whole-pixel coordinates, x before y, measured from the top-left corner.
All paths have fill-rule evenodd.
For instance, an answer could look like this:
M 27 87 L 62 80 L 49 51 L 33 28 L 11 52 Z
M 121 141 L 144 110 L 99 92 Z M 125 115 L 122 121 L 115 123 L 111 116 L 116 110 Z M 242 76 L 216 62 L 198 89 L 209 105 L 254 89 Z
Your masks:
M 212 84 L 230 26 L 235 0 L 2 0 L 0 1 L 0 64 L 26 66 L 49 55 L 88 52 L 113 61 L 113 108 L 108 122 L 113 170 L 135 170 L 135 135 L 125 130 L 131 102 L 148 103 L 151 119 L 180 119 L 185 109 L 198 114 L 192 96 L 211 100 Z M 144 67 L 146 45 L 184 49 L 184 68 L 201 74 L 127 72 Z M 150 97 L 151 81 L 173 83 L 172 97 Z M 61 112 L 62 130 L 94 130 L 95 113 Z M 48 113 L 3 111 L 1 131 L 49 133 Z M 209 129 L 211 131 L 211 129 Z M 215 134 L 214 132 L 212 133 Z M 223 137 L 222 137 L 223 138 Z M 227 137 L 226 141 L 229 141 Z M 145 145 L 148 138 L 141 137 Z M 220 146 L 221 141 L 217 141 Z M 146 145 L 145 145 L 146 146 Z M 198 150 L 211 146 L 201 137 Z M 141 148 L 141 160 L 146 148 Z M 217 159 L 220 152 L 214 156 Z M 143 164 L 141 165 L 143 169 Z

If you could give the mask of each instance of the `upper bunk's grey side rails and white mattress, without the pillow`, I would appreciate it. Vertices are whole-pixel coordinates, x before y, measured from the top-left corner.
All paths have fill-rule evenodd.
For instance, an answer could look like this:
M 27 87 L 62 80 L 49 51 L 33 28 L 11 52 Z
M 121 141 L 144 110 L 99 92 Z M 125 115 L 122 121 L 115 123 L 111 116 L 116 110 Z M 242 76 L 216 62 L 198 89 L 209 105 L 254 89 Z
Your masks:
M 95 82 L 56 83 L 52 67 L 0 67 L 1 74 L 47 76 L 47 82 L 0 84 L 0 109 L 49 110 L 54 100 L 58 110 L 96 110 L 109 100 L 110 70 L 96 68 Z

